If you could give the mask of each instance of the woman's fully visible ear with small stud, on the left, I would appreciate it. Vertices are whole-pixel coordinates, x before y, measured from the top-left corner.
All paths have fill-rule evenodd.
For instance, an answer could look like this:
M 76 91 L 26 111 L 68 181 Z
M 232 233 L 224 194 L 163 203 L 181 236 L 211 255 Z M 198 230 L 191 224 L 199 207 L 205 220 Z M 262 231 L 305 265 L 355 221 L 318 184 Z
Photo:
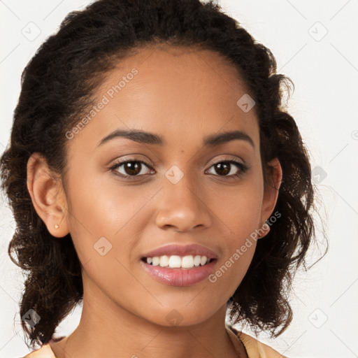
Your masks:
M 50 234 L 58 238 L 69 234 L 62 180 L 55 176 L 46 159 L 38 152 L 33 153 L 27 161 L 27 189 L 36 213 Z M 58 229 L 55 229 L 57 226 Z

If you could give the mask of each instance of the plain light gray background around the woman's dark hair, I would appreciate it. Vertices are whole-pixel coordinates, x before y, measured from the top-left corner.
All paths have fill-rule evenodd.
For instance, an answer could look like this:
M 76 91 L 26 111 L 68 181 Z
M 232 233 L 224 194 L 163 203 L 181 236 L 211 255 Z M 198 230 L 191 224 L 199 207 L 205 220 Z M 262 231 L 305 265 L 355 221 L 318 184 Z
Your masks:
M 22 69 L 71 10 L 85 0 L 0 1 L 1 152 L 8 145 Z M 278 72 L 292 78 L 291 113 L 310 152 L 329 252 L 295 280 L 294 320 L 282 336 L 260 340 L 289 357 L 358 357 L 358 1 L 222 0 L 257 41 L 270 48 Z M 320 224 L 320 222 L 318 222 Z M 29 352 L 20 328 L 22 273 L 7 255 L 15 224 L 1 201 L 0 357 Z M 320 231 L 318 239 L 322 239 Z M 317 255 L 312 251 L 313 256 Z M 80 307 L 59 327 L 76 328 Z

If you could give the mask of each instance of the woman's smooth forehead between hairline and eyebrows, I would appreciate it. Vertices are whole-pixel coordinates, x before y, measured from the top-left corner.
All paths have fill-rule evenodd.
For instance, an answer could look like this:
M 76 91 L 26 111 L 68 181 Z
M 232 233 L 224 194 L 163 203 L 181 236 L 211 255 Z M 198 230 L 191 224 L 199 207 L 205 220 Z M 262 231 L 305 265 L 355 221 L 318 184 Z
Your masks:
M 76 136 L 90 150 L 115 129 L 155 132 L 172 145 L 238 129 L 257 142 L 255 107 L 244 112 L 238 106 L 247 95 L 238 70 L 217 52 L 142 48 L 107 73 L 94 96 L 96 110 L 92 108 L 89 123 Z

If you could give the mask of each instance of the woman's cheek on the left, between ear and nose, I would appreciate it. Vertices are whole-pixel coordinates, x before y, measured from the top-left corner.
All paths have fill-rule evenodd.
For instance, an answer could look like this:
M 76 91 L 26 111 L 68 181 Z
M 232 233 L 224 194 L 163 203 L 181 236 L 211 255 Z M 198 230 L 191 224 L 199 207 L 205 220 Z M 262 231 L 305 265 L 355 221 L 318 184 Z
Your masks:
M 124 267 L 134 262 L 133 249 L 148 225 L 152 213 L 148 203 L 158 188 L 119 184 L 107 173 L 94 178 L 90 171 L 85 175 L 86 170 L 73 171 L 69 180 L 73 244 L 80 262 L 90 262 L 93 269 L 86 267 L 94 280 L 99 272 L 122 280 L 127 277 Z

